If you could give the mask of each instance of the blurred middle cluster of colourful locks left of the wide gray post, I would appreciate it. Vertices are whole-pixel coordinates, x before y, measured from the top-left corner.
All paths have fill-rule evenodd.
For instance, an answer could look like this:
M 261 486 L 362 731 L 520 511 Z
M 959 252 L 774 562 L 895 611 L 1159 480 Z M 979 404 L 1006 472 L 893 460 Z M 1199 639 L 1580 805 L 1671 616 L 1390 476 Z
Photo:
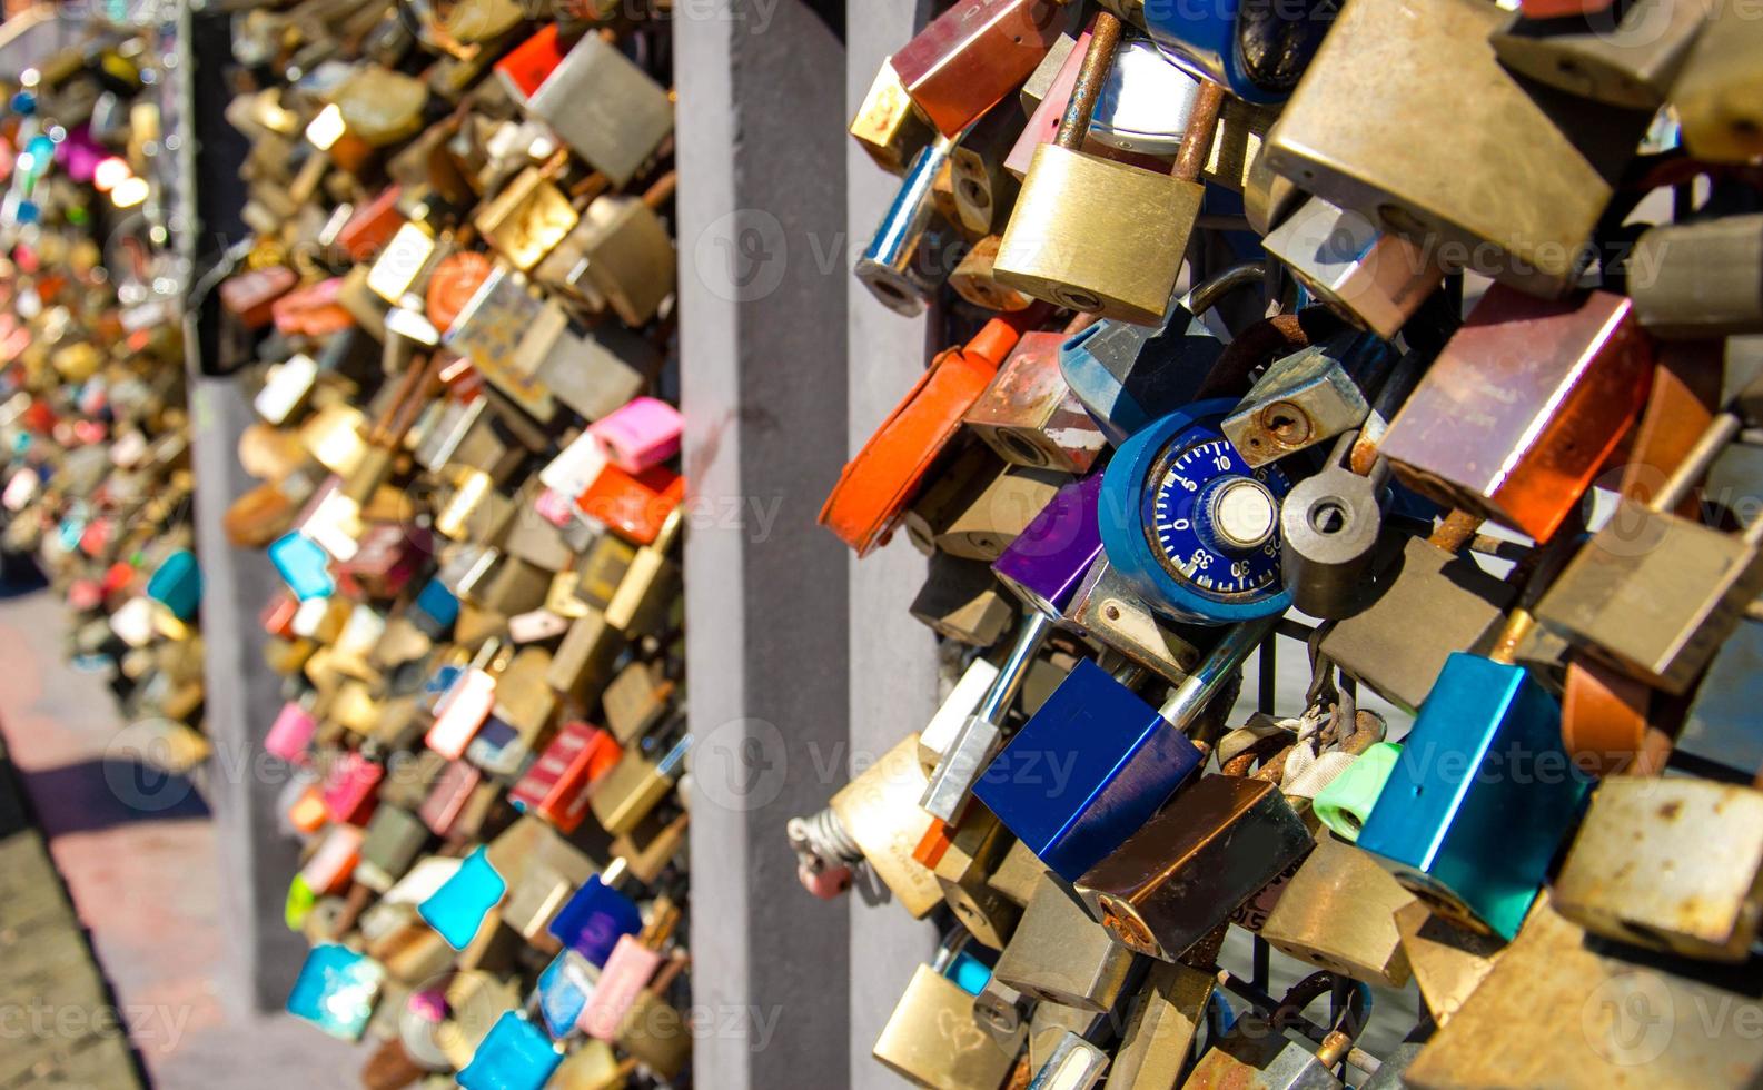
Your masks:
M 689 1074 L 666 26 L 234 18 L 219 286 L 303 840 L 287 1009 L 363 1083 Z

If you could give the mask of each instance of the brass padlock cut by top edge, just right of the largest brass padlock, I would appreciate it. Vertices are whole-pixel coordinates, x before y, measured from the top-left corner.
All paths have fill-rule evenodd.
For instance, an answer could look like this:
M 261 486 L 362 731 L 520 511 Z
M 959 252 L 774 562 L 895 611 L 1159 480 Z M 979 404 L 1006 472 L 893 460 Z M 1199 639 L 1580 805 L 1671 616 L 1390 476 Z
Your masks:
M 1652 111 L 1664 104 L 1707 21 L 1700 0 L 1640 0 L 1583 19 L 1525 9 L 1488 41 L 1520 76 L 1594 102 Z

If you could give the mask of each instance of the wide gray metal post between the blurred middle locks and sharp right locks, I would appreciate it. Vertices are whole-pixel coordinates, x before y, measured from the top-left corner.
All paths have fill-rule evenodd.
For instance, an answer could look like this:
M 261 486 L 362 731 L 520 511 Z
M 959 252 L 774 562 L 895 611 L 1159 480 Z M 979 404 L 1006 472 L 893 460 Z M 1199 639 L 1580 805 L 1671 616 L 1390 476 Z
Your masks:
M 846 917 L 783 829 L 846 753 L 844 51 L 802 0 L 675 5 L 695 1067 L 846 1081 Z

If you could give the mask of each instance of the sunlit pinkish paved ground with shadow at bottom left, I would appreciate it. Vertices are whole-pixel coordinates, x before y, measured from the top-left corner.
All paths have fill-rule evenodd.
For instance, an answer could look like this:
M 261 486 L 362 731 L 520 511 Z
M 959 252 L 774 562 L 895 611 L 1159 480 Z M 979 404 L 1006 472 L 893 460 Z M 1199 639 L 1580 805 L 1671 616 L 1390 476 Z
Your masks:
M 194 794 L 153 813 L 122 803 L 113 787 L 123 783 L 118 776 L 141 773 L 104 760 L 106 744 L 122 723 L 102 677 L 65 665 L 65 633 L 63 607 L 48 591 L 0 601 L 0 732 L 78 912 L 78 921 L 65 921 L 53 942 L 48 937 L 12 942 L 9 937 L 25 935 L 33 915 L 53 915 L 55 898 L 48 891 L 58 894 L 60 885 L 35 836 L 14 831 L 0 841 L 0 1090 L 53 1081 L 19 1067 L 30 1049 L 16 1049 L 5 1039 L 7 1018 L 19 1018 L 5 1004 L 32 1002 L 49 1011 L 26 1011 L 25 1021 L 49 1018 L 51 1044 L 60 1046 L 85 1037 L 56 1030 L 55 1018 L 78 1028 L 81 1019 L 90 1021 L 83 1011 L 116 1011 L 157 1086 L 360 1085 L 360 1051 L 293 1018 L 259 1016 L 233 1002 L 236 989 L 224 972 L 231 938 L 217 908 L 213 824 Z M 122 794 L 127 797 L 127 788 Z M 0 815 L 9 801 L 16 803 L 0 780 Z M 41 998 L 32 998 L 37 993 L 28 981 L 23 993 L 7 988 L 30 977 L 18 968 L 25 958 L 78 963 L 76 922 L 90 931 L 115 998 L 100 998 L 90 974 L 79 984 L 85 991 L 76 989 L 74 970 L 67 991 L 44 986 Z M 60 970 L 53 979 L 62 986 Z M 129 1081 L 127 1051 L 116 1044 L 106 1044 L 108 1051 L 85 1044 L 63 1048 L 92 1065 L 76 1081 L 138 1085 Z

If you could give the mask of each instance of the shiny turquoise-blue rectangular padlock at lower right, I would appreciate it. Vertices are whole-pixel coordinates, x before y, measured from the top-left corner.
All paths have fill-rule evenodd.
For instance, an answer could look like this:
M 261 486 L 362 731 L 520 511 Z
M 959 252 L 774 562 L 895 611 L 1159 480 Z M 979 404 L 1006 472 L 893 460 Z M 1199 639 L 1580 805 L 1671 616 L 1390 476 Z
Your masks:
M 1562 746 L 1555 698 L 1523 667 L 1458 651 L 1359 847 L 1440 915 L 1513 938 L 1588 788 Z

